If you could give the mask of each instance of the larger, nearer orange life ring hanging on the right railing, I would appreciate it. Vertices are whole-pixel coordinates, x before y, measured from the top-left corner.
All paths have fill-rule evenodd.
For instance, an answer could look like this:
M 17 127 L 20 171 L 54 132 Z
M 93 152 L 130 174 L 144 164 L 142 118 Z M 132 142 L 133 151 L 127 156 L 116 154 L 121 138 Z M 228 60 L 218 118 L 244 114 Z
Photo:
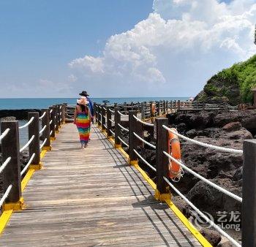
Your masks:
M 172 129 L 177 132 L 176 129 Z M 168 153 L 178 161 L 181 160 L 181 143 L 178 140 L 178 136 L 169 132 L 168 134 Z M 181 174 L 181 166 L 175 161 L 170 160 L 169 163 L 169 178 L 178 178 Z

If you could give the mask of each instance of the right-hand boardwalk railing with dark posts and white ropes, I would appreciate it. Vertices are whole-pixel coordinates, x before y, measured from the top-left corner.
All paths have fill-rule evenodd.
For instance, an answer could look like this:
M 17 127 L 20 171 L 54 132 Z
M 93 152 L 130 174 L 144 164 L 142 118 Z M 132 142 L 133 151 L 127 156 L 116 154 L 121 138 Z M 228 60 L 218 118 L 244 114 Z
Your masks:
M 171 162 L 179 164 L 182 170 L 195 175 L 196 178 L 203 180 L 209 186 L 214 187 L 219 192 L 224 193 L 228 197 L 242 204 L 242 243 L 243 246 L 256 246 L 256 235 L 254 233 L 256 229 L 256 140 L 245 140 L 244 150 L 236 150 L 233 148 L 224 148 L 216 145 L 211 145 L 197 140 L 190 139 L 184 135 L 178 134 L 173 129 L 168 127 L 167 118 L 155 118 L 154 123 L 148 123 L 141 118 L 145 118 L 145 112 L 148 110 L 146 107 L 148 103 L 143 103 L 136 110 L 128 110 L 131 108 L 129 105 L 116 105 L 116 106 L 104 106 L 95 104 L 94 110 L 96 111 L 96 122 L 102 132 L 107 134 L 110 140 L 113 140 L 115 148 L 124 148 L 129 155 L 129 164 L 138 167 L 138 161 L 142 161 L 153 172 L 155 172 L 156 184 L 151 185 L 155 189 L 156 199 L 170 202 L 170 191 L 178 194 L 185 202 L 198 213 L 199 216 L 204 218 L 211 227 L 216 229 L 221 235 L 225 236 L 234 246 L 241 246 L 234 240 L 227 232 L 223 231 L 214 221 L 211 221 L 204 213 L 202 213 L 196 205 L 187 199 L 184 194 L 181 194 L 176 186 L 173 184 L 173 180 L 168 177 L 169 165 Z M 154 103 L 151 103 L 154 104 Z M 162 108 L 163 105 L 163 108 Z M 157 110 L 162 108 L 160 113 L 168 113 L 170 104 L 157 104 Z M 165 107 L 166 106 L 166 107 Z M 152 107 L 154 108 L 154 107 Z M 151 108 L 151 109 L 152 109 Z M 127 114 L 128 113 L 128 114 Z M 159 114 L 159 112 L 158 112 Z M 138 117 L 140 115 L 140 118 Z M 151 115 L 152 116 L 152 115 Z M 151 137 L 155 137 L 155 142 L 148 142 L 145 140 L 144 132 L 147 131 L 151 134 Z M 210 180 L 203 178 L 203 176 L 197 174 L 193 170 L 189 169 L 181 160 L 175 159 L 171 153 L 169 153 L 168 135 L 169 132 L 178 135 L 181 139 L 188 142 L 192 142 L 195 145 L 200 145 L 205 148 L 211 148 L 220 152 L 236 153 L 244 156 L 244 174 L 243 174 L 243 198 L 238 197 L 227 189 L 218 186 Z M 150 164 L 140 154 L 141 148 L 148 146 L 148 148 L 156 151 L 156 167 Z M 140 169 L 141 170 L 141 169 Z M 145 172 L 144 172 L 145 173 Z M 180 174 L 181 175 L 181 174 Z M 151 180 L 150 178 L 146 178 Z M 185 224 L 185 223 L 184 223 Z M 192 232 L 193 233 L 193 232 Z

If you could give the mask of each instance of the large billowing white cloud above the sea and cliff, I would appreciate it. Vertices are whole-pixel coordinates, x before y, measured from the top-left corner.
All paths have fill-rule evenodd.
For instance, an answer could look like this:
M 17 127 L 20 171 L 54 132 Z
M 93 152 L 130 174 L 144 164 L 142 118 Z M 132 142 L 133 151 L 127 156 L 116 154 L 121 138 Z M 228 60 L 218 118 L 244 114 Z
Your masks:
M 194 95 L 219 69 L 256 51 L 255 1 L 154 0 L 153 9 L 131 30 L 111 36 L 102 56 L 69 63 L 94 94 Z M 99 88 L 105 88 L 101 95 Z

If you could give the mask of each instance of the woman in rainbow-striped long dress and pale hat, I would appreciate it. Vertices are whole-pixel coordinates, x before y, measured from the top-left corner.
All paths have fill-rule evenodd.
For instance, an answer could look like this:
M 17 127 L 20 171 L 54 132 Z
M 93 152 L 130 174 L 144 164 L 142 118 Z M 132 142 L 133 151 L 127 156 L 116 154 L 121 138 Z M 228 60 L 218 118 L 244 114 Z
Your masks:
M 81 148 L 86 148 L 90 138 L 91 113 L 88 102 L 78 99 L 74 113 L 74 123 L 78 127 Z

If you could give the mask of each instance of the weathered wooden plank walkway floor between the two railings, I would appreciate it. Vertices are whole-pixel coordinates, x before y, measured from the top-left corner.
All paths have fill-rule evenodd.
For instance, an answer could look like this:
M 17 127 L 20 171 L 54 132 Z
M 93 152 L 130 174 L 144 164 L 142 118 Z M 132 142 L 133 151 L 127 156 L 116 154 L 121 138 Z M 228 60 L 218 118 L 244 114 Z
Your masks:
M 105 135 L 91 132 L 81 150 L 75 126 L 62 126 L 0 246 L 200 246 Z

